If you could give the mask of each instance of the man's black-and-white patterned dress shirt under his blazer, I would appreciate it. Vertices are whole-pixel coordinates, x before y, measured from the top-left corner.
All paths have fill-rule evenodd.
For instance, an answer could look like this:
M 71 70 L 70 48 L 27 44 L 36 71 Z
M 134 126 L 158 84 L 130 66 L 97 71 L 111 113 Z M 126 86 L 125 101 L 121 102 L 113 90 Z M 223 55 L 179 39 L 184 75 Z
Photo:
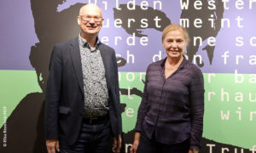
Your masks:
M 79 48 L 84 78 L 84 117 L 104 116 L 108 113 L 108 88 L 105 77 L 105 67 L 102 61 L 99 45 L 91 49 L 79 35 Z

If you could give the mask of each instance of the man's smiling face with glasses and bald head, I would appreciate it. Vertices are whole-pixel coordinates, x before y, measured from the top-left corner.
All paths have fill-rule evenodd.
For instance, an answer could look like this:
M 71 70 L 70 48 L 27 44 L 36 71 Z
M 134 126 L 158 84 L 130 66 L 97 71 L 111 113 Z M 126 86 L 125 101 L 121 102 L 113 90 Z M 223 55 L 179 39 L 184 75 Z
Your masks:
M 102 10 L 94 5 L 82 8 L 78 17 L 82 34 L 87 36 L 96 36 L 101 30 L 102 21 Z

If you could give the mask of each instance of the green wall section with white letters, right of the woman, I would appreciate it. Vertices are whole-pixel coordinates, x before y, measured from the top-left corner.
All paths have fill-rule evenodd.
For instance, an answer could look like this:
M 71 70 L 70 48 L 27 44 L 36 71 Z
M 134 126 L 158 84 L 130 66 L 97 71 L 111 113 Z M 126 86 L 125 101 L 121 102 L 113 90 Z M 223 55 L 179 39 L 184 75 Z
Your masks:
M 204 74 L 203 136 L 220 143 L 251 149 L 256 144 L 256 75 L 214 75 L 210 81 L 210 74 Z M 224 118 L 224 115 L 229 117 Z

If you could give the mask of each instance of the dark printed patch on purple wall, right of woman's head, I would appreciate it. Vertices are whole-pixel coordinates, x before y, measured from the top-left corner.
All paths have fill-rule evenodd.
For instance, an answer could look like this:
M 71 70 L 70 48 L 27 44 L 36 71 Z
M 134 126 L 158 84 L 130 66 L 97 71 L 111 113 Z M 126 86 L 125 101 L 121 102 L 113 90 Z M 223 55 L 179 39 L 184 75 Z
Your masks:
M 183 0 L 183 2 L 186 0 Z M 218 32 L 221 29 L 221 19 L 223 18 L 224 14 L 224 3 L 222 0 L 216 0 L 215 5 L 216 9 L 209 9 L 208 7 L 212 8 L 208 5 L 207 1 L 201 1 L 202 8 L 197 10 L 194 7 L 194 3 L 196 0 L 190 0 L 189 1 L 189 8 L 183 9 L 183 12 L 181 14 L 180 19 L 189 19 L 189 37 L 191 38 L 191 41 L 189 42 L 188 47 L 188 56 L 189 61 L 191 62 L 193 60 L 194 55 L 197 53 L 199 48 L 199 42 L 196 43 L 196 45 L 193 45 L 193 37 L 201 37 L 202 42 L 207 40 L 208 37 L 217 37 Z M 201 28 L 196 28 L 194 26 L 194 20 L 195 19 L 201 19 Z M 213 20 L 213 28 L 212 28 L 212 22 L 209 20 Z M 215 46 L 209 46 L 207 45 L 203 50 L 207 51 L 208 59 L 210 64 L 212 65 L 212 59 L 213 59 L 213 52 L 214 52 Z M 197 65 L 203 66 L 204 63 L 200 64 L 199 59 L 196 59 Z

